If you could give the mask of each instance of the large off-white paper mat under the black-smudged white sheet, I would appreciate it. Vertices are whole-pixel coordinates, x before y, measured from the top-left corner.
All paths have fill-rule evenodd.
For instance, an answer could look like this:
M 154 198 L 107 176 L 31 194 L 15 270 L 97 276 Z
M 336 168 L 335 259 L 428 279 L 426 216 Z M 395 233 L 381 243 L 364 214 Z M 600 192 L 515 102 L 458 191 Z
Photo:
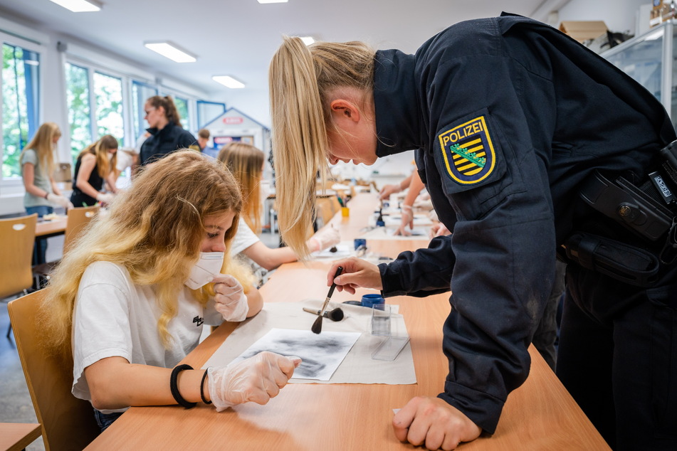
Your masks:
M 233 331 L 202 368 L 229 364 L 273 328 L 310 331 L 317 317 L 304 312 L 303 307 L 320 309 L 322 300 L 266 302 L 259 314 L 242 322 Z M 341 307 L 345 318 L 340 322 L 323 319 L 320 335 L 329 331 L 357 332 L 360 338 L 357 339 L 329 381 L 294 377 L 290 379 L 291 383 L 387 383 L 392 385 L 416 383 L 411 344 L 407 344 L 394 361 L 374 360 L 371 357 L 372 353 L 387 337 L 372 336 L 370 333 L 371 309 L 337 302 L 330 302 L 327 309 L 336 307 Z M 406 335 L 406 326 L 401 314 L 392 315 L 391 329 L 392 335 Z

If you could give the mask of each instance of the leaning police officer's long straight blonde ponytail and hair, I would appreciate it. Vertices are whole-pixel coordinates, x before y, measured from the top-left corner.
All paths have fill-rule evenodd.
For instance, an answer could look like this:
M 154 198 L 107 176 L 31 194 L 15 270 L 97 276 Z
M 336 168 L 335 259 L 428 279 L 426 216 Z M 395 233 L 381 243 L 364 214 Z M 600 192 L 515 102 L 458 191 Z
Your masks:
M 283 38 L 269 73 L 278 223 L 284 242 L 299 258 L 315 210 L 317 171 L 327 173 L 327 92 L 357 87 L 371 95 L 374 51 L 364 43 L 315 43 Z

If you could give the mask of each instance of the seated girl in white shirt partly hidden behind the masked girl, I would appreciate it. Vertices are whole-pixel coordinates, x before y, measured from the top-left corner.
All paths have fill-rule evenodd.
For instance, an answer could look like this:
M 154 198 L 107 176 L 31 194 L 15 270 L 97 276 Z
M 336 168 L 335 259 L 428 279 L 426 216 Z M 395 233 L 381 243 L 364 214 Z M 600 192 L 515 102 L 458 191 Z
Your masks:
M 262 283 L 266 272 L 283 263 L 298 260 L 298 256 L 291 248 L 268 248 L 257 236 L 261 233 L 261 211 L 265 201 L 261 195 L 264 154 L 251 144 L 231 142 L 221 148 L 219 161 L 223 162 L 235 176 L 243 198 L 240 224 L 233 239 L 231 253 L 251 265 L 258 282 Z M 339 241 L 338 230 L 325 227 L 308 239 L 307 244 L 308 248 L 315 252 L 331 248 Z

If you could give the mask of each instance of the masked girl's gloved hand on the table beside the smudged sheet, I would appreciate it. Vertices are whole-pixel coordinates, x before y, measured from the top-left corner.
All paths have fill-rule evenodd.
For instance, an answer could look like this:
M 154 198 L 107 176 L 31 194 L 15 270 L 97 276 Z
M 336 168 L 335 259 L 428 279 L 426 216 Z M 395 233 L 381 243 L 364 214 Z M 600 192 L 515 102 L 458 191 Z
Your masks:
M 209 396 L 219 412 L 247 401 L 266 404 L 287 385 L 300 363 L 298 357 L 263 351 L 236 364 L 210 367 Z

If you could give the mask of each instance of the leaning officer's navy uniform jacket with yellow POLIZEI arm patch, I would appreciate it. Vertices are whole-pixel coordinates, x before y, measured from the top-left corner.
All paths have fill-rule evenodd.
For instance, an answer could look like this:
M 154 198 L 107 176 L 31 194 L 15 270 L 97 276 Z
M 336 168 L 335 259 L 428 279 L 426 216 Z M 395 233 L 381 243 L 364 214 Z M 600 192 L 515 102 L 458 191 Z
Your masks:
M 439 397 L 493 433 L 528 376 L 556 247 L 589 213 L 579 213 L 577 185 L 594 169 L 646 174 L 674 129 L 606 60 L 505 14 L 451 26 L 415 55 L 377 51 L 374 105 L 377 154 L 417 149 L 421 179 L 453 231 L 379 265 L 384 295 L 451 289 Z

